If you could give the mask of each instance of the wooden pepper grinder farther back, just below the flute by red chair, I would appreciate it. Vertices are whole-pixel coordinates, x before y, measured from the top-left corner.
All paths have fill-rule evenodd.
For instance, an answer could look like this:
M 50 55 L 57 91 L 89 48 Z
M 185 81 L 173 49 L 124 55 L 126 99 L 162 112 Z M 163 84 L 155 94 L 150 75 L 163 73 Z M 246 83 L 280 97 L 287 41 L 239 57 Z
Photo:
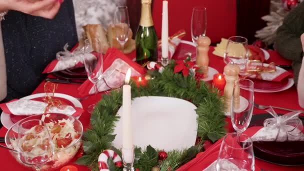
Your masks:
M 199 36 L 196 42 L 196 64 L 198 67 L 202 68 L 203 76 L 208 77 L 208 50 L 211 40 L 207 36 Z

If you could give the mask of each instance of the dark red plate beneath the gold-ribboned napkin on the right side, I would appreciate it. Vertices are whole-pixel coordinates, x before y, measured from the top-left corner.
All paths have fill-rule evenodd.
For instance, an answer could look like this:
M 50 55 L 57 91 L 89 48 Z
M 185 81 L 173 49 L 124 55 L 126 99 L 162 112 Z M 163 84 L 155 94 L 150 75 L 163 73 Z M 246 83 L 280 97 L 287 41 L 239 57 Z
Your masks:
M 251 80 L 254 83 L 254 89 L 262 89 L 262 90 L 280 89 L 288 84 L 288 78 L 285 78 L 280 82 L 266 81 L 261 79 L 251 79 Z

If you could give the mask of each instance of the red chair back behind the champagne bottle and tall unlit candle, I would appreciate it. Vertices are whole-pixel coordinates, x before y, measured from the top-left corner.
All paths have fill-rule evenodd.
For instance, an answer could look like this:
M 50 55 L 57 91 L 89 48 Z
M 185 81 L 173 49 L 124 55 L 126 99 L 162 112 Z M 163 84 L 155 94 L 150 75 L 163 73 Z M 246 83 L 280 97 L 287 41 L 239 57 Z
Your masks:
M 157 37 L 161 37 L 162 0 L 153 0 L 152 17 Z M 191 41 L 191 15 L 195 6 L 207 8 L 206 35 L 211 42 L 236 32 L 236 0 L 168 0 L 169 36 L 185 29 L 184 40 Z

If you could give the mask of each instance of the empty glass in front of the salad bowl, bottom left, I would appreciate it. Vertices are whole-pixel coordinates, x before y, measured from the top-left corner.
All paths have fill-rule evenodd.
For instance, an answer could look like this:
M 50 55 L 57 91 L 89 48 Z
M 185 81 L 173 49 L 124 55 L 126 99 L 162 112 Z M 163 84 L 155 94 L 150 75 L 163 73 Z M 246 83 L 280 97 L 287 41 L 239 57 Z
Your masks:
M 53 144 L 43 121 L 32 119 L 19 123 L 18 158 L 21 162 L 40 170 L 53 153 Z

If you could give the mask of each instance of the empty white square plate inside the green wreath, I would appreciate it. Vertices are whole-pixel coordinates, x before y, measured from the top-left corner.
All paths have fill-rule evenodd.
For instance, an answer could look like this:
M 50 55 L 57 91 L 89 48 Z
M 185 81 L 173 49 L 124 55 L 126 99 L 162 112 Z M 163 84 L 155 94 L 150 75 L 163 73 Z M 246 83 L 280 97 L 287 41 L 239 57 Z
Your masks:
M 189 101 L 161 96 L 142 96 L 132 100 L 133 144 L 165 151 L 189 148 L 197 135 L 196 106 Z M 121 116 L 122 108 L 117 114 Z M 121 117 L 120 117 L 121 118 Z M 122 119 L 116 123 L 114 147 L 122 144 Z

